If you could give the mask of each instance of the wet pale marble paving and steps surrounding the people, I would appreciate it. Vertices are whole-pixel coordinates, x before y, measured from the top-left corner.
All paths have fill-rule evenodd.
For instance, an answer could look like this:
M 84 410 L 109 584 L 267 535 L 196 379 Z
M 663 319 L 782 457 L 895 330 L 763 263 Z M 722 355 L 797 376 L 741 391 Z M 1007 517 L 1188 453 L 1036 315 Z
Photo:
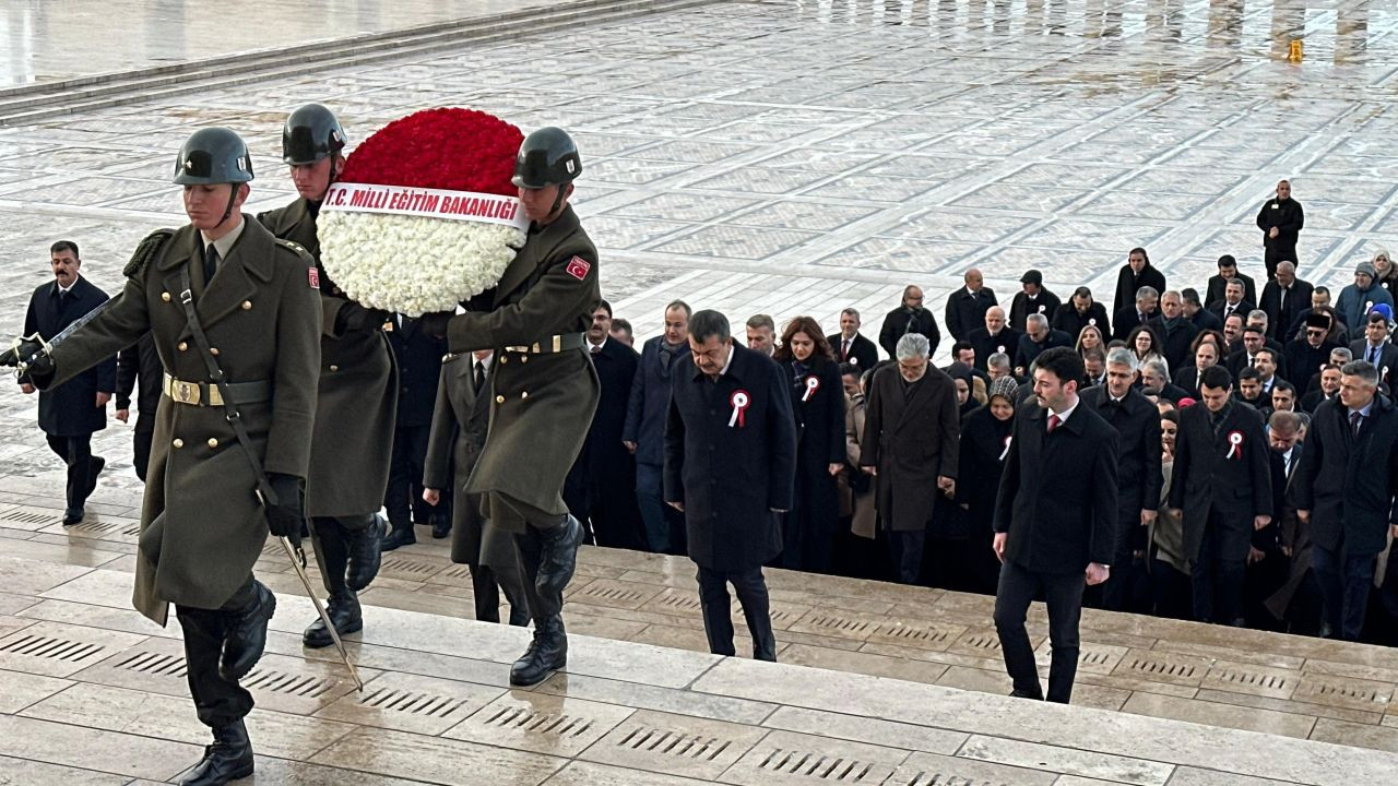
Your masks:
M 1220 253 L 1255 277 L 1253 218 L 1279 178 L 1307 211 L 1303 278 L 1345 284 L 1398 243 L 1395 0 L 110 6 L 0 0 L 6 334 L 50 278 L 53 241 L 77 241 L 84 274 L 115 291 L 134 243 L 183 221 L 168 172 L 196 127 L 254 144 L 249 210 L 289 200 L 280 127 L 306 101 L 355 138 L 433 105 L 575 131 L 604 295 L 640 337 L 672 298 L 832 329 L 854 305 L 877 331 L 920 284 L 939 319 L 973 266 L 1002 301 L 1026 267 L 1058 294 L 1110 298 L 1137 245 L 1172 284 L 1202 287 Z M 64 529 L 63 474 L 34 421 L 35 400 L 0 385 L 0 785 L 178 779 L 206 731 L 179 627 L 127 603 L 129 427 L 94 441 L 108 457 L 95 515 Z M 686 561 L 583 558 L 569 673 L 510 691 L 524 634 L 461 620 L 470 580 L 439 543 L 396 552 L 351 645 L 361 695 L 303 653 L 309 601 L 268 551 L 259 571 L 284 601 L 252 680 L 256 782 L 1276 786 L 1398 772 L 1392 650 L 1089 613 L 1079 706 L 1043 706 L 1002 696 L 983 597 L 774 572 L 783 664 L 769 666 L 693 652 Z

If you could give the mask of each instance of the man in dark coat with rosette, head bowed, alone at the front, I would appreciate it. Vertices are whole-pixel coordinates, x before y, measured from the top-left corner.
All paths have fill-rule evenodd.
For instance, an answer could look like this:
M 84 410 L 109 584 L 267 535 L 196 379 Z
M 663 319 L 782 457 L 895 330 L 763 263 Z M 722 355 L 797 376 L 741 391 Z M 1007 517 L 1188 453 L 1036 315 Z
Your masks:
M 777 659 L 762 565 L 781 551 L 779 517 L 794 484 L 795 425 L 780 366 L 735 345 L 721 313 L 696 312 L 665 425 L 665 502 L 685 515 L 714 655 L 735 655 L 731 583 L 752 657 Z

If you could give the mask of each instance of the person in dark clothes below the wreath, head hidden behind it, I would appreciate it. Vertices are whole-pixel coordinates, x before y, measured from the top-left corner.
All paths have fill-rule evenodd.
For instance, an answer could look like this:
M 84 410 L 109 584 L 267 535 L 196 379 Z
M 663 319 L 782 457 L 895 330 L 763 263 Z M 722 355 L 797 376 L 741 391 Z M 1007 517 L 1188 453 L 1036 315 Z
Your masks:
M 422 499 L 422 471 L 432 435 L 442 357 L 447 352 L 446 340 L 428 336 L 419 330 L 417 319 L 401 313 L 391 317 L 386 330 L 398 366 L 398 410 L 383 499 L 393 524 L 393 531 L 383 538 L 383 551 L 393 551 L 418 541 L 412 531 L 414 520 L 419 524 L 432 522 L 432 537 L 446 537 L 452 531 L 453 499 L 450 485 L 443 490 L 442 503 L 435 509 Z

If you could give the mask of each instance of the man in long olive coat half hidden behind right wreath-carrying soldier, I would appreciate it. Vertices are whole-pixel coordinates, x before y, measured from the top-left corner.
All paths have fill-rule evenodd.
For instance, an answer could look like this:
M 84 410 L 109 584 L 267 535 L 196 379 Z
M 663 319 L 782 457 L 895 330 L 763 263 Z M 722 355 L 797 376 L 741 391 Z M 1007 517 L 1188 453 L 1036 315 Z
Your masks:
M 442 502 L 442 490 L 466 488 L 485 448 L 491 427 L 491 350 L 468 355 L 447 355 L 442 361 L 442 382 L 432 435 L 422 473 L 424 499 Z M 528 624 L 524 585 L 514 559 L 514 541 L 481 516 L 481 498 L 461 494 L 452 506 L 452 562 L 471 569 L 475 618 L 500 621 L 500 590 L 510 601 L 510 625 Z

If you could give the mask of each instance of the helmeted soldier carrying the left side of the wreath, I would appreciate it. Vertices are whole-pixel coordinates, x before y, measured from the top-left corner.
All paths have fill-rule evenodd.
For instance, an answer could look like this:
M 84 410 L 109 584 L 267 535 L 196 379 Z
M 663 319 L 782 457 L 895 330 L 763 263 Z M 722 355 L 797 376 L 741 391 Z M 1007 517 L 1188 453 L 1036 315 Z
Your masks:
M 398 392 L 393 352 L 383 334 L 389 315 L 347 299 L 320 267 L 316 215 L 336 172 L 344 168 L 344 129 L 324 106 L 308 103 L 292 112 L 281 131 L 281 159 L 291 166 L 301 196 L 287 207 L 257 215 L 273 235 L 306 249 L 320 278 L 320 382 L 306 516 L 322 582 L 330 593 L 330 621 L 340 635 L 363 628 L 355 593 L 379 572 L 384 530 L 379 505 L 389 483 Z M 317 617 L 302 642 L 326 648 L 333 639 Z

